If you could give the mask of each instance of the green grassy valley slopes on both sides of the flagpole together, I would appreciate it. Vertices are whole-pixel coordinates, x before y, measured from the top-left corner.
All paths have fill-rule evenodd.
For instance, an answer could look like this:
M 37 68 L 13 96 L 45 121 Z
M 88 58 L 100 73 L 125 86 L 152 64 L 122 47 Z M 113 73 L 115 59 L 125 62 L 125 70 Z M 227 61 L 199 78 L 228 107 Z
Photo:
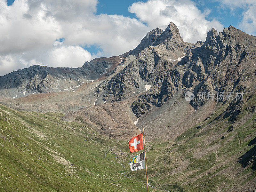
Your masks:
M 147 143 L 150 191 L 256 191 L 255 97 L 233 123 L 228 103 L 177 138 Z M 0 191 L 145 191 L 127 141 L 60 113 L 0 106 Z M 124 165 L 124 166 L 123 166 Z

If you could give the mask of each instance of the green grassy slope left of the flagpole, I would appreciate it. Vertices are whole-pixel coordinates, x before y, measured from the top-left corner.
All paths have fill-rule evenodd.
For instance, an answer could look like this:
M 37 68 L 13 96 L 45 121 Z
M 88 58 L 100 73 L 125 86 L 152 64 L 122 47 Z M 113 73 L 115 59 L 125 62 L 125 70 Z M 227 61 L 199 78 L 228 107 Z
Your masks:
M 126 176 L 126 141 L 62 116 L 0 105 L 0 191 L 145 191 L 145 180 Z

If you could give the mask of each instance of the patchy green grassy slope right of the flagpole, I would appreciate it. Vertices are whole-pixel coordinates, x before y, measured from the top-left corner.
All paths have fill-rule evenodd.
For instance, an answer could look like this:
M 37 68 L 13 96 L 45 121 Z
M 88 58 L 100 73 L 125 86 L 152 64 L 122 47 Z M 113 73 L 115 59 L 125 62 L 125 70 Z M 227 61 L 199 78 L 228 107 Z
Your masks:
M 175 140 L 151 142 L 149 180 L 168 191 L 256 191 L 255 95 L 233 124 L 229 103 Z M 141 172 L 129 173 L 141 178 Z

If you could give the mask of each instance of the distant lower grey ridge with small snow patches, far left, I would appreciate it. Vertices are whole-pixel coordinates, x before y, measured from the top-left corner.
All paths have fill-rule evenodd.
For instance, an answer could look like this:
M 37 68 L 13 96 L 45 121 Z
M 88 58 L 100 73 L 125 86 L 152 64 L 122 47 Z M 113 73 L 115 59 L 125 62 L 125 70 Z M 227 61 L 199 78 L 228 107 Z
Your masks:
M 86 61 L 81 68 L 51 68 L 40 65 L 13 71 L 0 76 L 0 95 L 22 97 L 32 93 L 49 93 L 71 90 L 89 80 L 96 80 L 113 70 L 120 57 L 96 58 Z M 20 94 L 20 93 L 25 94 Z

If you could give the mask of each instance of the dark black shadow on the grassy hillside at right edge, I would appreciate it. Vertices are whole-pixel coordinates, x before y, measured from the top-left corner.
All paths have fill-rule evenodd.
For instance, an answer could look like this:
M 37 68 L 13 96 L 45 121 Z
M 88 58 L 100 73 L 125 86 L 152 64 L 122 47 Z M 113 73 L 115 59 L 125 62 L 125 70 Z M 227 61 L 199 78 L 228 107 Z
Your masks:
M 248 146 L 251 146 L 252 143 L 255 144 L 255 138 L 250 141 Z M 256 144 L 248 150 L 244 155 L 239 157 L 240 160 L 238 160 L 238 163 L 243 165 L 243 168 L 247 167 L 248 165 L 252 164 L 252 170 L 256 170 Z

